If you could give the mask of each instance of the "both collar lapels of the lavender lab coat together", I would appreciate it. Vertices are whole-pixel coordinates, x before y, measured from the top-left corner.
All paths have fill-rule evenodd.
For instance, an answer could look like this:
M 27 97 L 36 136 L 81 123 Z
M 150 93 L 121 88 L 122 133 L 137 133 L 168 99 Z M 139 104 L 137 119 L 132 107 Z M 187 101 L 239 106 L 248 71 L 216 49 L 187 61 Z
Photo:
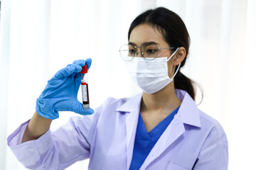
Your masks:
M 176 95 L 181 99 L 181 107 L 175 115 L 174 120 L 166 128 L 165 132 L 156 142 L 148 157 L 146 158 L 142 168 L 146 168 L 156 157 L 164 152 L 174 141 L 185 132 L 184 124 L 193 125 L 198 128 L 201 127 L 199 111 L 196 103 L 186 91 L 176 89 Z M 134 148 L 134 140 L 139 118 L 140 104 L 142 101 L 142 93 L 132 96 L 131 98 L 124 98 L 122 104 L 116 111 L 120 113 L 127 113 L 126 128 L 127 128 L 127 169 L 132 162 L 132 153 Z M 168 140 L 166 140 L 168 139 Z

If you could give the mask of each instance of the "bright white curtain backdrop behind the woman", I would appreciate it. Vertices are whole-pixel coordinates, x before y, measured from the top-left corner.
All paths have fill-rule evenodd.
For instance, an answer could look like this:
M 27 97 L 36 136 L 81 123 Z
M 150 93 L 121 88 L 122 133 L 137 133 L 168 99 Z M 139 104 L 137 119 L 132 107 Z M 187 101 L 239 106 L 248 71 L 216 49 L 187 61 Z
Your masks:
M 148 8 L 178 13 L 191 36 L 182 72 L 203 86 L 202 111 L 228 136 L 229 169 L 255 169 L 255 0 L 4 0 L 0 29 L 0 169 L 25 169 L 6 137 L 31 118 L 58 69 L 92 58 L 90 106 L 137 94 L 119 57 L 132 20 Z M 81 101 L 80 91 L 78 98 Z M 197 103 L 201 101 L 198 91 Z M 75 113 L 60 113 L 51 128 Z M 87 169 L 89 160 L 68 169 Z

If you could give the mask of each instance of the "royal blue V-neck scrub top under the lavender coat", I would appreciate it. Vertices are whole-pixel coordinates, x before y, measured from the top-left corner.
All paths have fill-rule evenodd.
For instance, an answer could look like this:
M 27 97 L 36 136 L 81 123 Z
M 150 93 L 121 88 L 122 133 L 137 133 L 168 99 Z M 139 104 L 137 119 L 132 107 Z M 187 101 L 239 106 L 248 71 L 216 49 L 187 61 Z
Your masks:
M 144 160 L 149 155 L 149 152 L 154 147 L 157 140 L 159 140 L 159 137 L 163 134 L 164 130 L 166 130 L 167 126 L 171 123 L 171 120 L 174 119 L 174 115 L 178 113 L 178 108 L 176 108 L 175 111 L 173 111 L 164 120 L 162 120 L 161 123 L 156 125 L 156 127 L 150 132 L 146 131 L 146 127 L 142 120 L 142 115 L 139 112 L 139 120 L 134 141 L 134 151 L 129 170 L 138 170 L 142 166 Z

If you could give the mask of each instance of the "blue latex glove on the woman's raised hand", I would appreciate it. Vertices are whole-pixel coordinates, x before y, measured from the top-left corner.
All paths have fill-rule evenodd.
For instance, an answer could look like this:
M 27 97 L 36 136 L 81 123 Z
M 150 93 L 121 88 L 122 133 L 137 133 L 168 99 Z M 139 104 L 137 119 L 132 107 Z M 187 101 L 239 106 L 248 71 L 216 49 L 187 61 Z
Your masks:
M 81 115 L 91 115 L 92 108 L 84 110 L 78 101 L 78 89 L 81 84 L 81 70 L 87 64 L 90 68 L 92 60 L 77 60 L 73 64 L 60 69 L 48 81 L 46 88 L 36 101 L 36 112 L 44 118 L 56 119 L 59 111 L 73 111 Z

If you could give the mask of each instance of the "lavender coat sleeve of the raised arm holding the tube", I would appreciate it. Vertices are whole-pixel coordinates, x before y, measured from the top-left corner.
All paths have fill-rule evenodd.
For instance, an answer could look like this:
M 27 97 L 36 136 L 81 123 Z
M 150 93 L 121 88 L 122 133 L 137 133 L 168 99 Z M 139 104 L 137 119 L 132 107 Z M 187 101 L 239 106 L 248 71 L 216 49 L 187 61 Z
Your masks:
M 16 158 L 28 169 L 64 169 L 90 157 L 90 145 L 99 118 L 92 115 L 70 118 L 68 123 L 51 132 L 48 130 L 38 140 L 21 143 L 23 123 L 8 137 L 8 145 Z

